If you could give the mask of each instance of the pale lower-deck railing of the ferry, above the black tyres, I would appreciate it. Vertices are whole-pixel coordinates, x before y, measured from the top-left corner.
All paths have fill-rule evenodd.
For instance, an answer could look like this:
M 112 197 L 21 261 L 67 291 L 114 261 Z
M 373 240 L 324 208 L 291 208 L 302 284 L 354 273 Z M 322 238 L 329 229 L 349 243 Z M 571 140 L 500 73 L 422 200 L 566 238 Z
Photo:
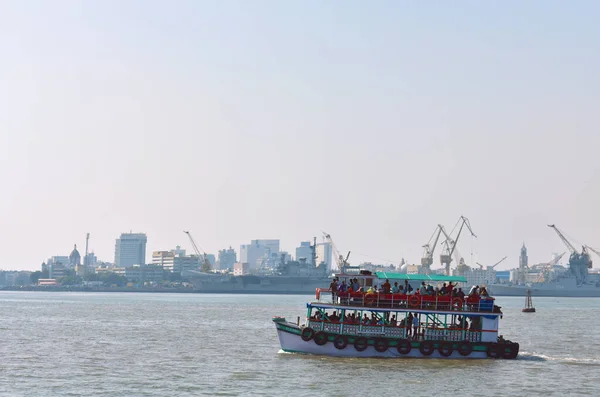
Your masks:
M 410 337 L 408 330 L 411 328 L 400 325 L 369 325 L 362 323 L 356 324 L 347 322 L 329 322 L 314 319 L 310 319 L 307 326 L 315 331 L 324 331 L 330 334 L 362 336 L 376 335 L 389 338 L 408 338 Z M 471 342 L 479 342 L 481 341 L 481 335 L 483 332 L 497 332 L 497 330 L 472 330 L 460 327 L 421 327 L 421 331 L 417 336 L 413 336 L 412 339 L 447 341 L 468 340 Z

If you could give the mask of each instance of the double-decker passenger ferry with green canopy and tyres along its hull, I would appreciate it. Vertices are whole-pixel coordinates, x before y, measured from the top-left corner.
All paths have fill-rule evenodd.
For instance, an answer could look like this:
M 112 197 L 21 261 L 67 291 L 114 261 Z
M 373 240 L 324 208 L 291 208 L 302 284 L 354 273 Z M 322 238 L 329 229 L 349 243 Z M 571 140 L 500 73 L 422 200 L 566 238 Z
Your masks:
M 376 272 L 336 274 L 339 283 L 358 282 L 358 292 L 317 289 L 300 325 L 274 317 L 285 352 L 342 357 L 515 359 L 519 344 L 498 334 L 502 318 L 493 297 L 429 295 L 425 284 L 465 282 L 462 276 Z M 404 292 L 372 292 L 403 284 Z M 418 284 L 418 285 L 417 285 Z M 411 288 L 414 292 L 408 292 Z M 434 290 L 435 291 L 435 290 Z M 387 290 L 386 290 L 387 292 Z M 416 319 L 416 320 L 415 320 Z

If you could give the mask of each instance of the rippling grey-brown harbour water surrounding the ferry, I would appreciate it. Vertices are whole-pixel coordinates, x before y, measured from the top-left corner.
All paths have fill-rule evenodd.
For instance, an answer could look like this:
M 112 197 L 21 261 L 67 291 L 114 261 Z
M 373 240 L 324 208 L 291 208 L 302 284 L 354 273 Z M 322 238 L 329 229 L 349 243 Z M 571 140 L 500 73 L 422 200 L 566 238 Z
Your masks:
M 444 361 L 280 352 L 310 298 L 0 292 L 0 395 L 600 395 L 600 299 L 499 297 L 519 359 Z

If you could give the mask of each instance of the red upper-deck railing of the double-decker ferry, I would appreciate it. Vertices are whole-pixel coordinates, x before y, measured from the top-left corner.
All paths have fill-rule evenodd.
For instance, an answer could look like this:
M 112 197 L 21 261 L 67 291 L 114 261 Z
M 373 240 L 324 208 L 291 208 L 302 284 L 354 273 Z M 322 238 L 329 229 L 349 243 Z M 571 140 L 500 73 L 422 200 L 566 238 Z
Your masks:
M 499 312 L 499 308 L 494 305 L 494 298 L 479 295 L 470 295 L 461 298 L 458 296 L 447 295 L 382 294 L 364 292 L 337 292 L 332 294 L 331 289 L 317 288 L 316 298 L 320 303 L 331 302 L 342 306 L 412 310 Z

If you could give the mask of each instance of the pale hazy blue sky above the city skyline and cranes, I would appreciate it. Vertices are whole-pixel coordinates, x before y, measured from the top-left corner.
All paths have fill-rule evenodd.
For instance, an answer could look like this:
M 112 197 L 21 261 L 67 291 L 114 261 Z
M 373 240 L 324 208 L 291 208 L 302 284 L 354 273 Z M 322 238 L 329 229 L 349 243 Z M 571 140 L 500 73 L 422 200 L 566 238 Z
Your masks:
M 329 233 L 418 263 L 600 248 L 596 1 L 0 2 L 1 269 Z M 436 254 L 437 257 L 437 254 Z M 595 267 L 600 257 L 595 256 Z M 433 268 L 439 268 L 438 260 Z

